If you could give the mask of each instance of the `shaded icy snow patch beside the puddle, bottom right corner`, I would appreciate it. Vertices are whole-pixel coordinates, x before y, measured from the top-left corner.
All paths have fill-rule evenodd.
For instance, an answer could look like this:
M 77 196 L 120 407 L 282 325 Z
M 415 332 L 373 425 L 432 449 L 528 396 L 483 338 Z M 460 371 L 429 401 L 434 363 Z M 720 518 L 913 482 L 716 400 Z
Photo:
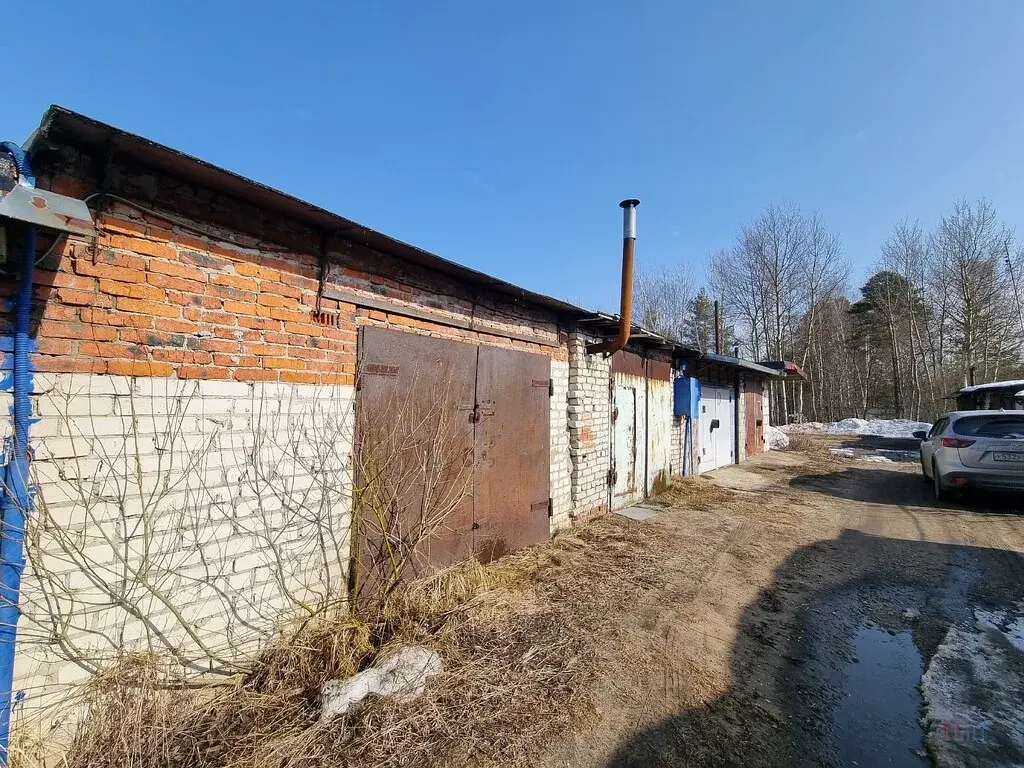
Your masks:
M 1024 603 L 950 627 L 921 690 L 939 765 L 1009 765 L 1008 755 L 1024 754 Z

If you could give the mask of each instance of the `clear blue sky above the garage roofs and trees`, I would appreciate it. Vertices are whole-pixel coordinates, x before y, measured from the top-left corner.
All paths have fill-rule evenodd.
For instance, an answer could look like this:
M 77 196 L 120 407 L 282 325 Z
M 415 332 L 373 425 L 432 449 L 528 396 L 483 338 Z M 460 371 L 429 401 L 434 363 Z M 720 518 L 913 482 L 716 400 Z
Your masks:
M 61 7 L 62 6 L 62 7 Z M 173 10 L 172 10 L 173 8 Z M 0 138 L 59 103 L 522 286 L 613 309 L 638 259 L 818 209 L 859 285 L 906 215 L 1024 234 L 1024 3 L 29 3 Z

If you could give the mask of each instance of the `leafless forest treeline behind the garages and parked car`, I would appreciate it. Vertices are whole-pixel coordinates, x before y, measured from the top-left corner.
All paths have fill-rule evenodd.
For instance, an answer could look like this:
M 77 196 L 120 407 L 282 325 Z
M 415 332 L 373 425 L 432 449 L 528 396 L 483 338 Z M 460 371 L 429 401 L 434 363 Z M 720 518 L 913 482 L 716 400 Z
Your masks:
M 907 418 L 950 410 L 966 382 L 1024 379 L 1024 242 L 987 200 L 958 201 L 934 226 L 903 219 L 856 290 L 839 234 L 817 213 L 769 207 L 705 281 L 685 264 L 641 270 L 637 318 L 713 351 L 786 359 L 803 385 L 776 383 L 772 421 Z

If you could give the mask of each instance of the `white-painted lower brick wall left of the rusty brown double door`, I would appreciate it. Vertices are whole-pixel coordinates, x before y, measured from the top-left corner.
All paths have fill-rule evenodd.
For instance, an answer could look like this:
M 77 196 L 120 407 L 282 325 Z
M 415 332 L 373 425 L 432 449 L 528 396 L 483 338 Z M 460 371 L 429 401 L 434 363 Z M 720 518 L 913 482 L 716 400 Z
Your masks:
M 88 675 L 73 657 L 170 645 L 208 669 L 344 593 L 351 386 L 65 374 L 35 391 L 23 710 Z

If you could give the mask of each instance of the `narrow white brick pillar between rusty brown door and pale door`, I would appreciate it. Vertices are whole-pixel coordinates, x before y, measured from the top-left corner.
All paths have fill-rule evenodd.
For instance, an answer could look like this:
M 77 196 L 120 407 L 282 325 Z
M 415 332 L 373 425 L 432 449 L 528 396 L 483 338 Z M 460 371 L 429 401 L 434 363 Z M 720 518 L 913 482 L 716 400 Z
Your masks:
M 569 336 L 568 426 L 573 515 L 606 507 L 608 503 L 611 361 L 603 355 L 587 354 L 587 344 L 594 341 L 597 339 L 579 334 Z

